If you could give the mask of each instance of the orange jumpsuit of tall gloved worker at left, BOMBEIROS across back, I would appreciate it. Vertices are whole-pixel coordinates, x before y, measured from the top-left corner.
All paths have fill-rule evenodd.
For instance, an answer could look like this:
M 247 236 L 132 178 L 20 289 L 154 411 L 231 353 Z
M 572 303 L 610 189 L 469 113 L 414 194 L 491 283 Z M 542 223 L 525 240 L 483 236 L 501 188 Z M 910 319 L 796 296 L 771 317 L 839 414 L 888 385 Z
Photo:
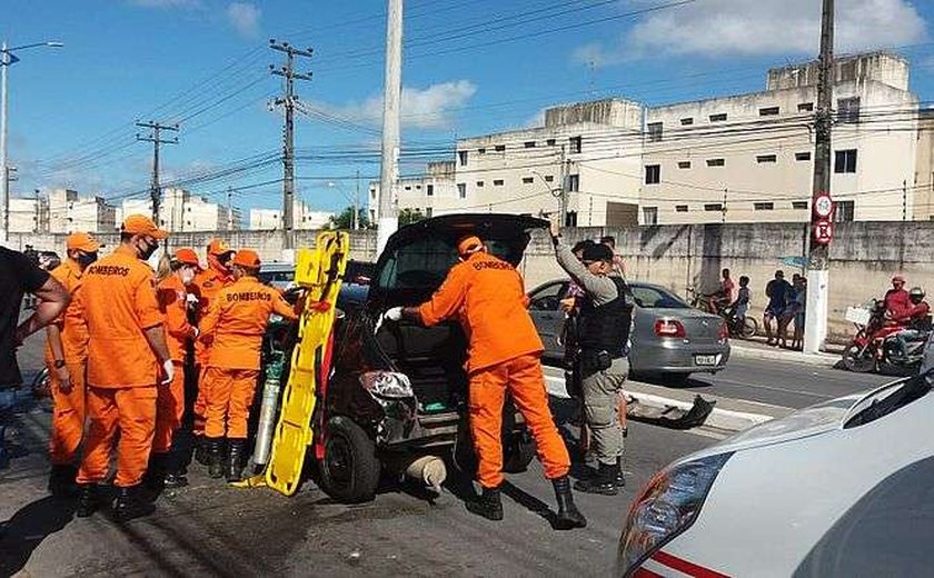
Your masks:
M 100 482 L 120 441 L 115 486 L 142 479 L 156 429 L 160 367 L 143 331 L 162 323 L 152 269 L 119 247 L 85 271 L 80 292 L 88 322 L 88 435 L 78 484 Z

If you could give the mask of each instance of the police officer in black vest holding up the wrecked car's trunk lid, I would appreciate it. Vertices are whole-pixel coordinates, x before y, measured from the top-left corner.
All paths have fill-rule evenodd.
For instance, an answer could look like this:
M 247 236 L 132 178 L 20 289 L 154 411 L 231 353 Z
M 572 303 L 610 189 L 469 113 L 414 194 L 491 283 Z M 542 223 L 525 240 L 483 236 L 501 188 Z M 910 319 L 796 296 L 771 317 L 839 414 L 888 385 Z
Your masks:
M 623 428 L 617 416 L 618 393 L 629 373 L 628 343 L 633 305 L 622 277 L 609 276 L 613 250 L 588 246 L 578 260 L 560 242 L 560 227 L 552 222 L 552 239 L 558 265 L 584 288 L 578 318 L 580 387 L 584 412 L 590 431 L 590 447 L 598 468 L 595 476 L 578 480 L 574 488 L 589 494 L 615 496 L 622 486 Z

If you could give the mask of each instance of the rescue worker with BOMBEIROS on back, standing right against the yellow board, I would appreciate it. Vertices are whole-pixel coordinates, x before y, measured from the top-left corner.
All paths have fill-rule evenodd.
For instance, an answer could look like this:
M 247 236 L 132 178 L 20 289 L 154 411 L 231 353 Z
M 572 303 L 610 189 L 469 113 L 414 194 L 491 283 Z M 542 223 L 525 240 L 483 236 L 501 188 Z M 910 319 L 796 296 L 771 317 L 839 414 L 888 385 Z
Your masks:
M 257 279 L 260 268 L 256 251 L 240 249 L 234 257 L 236 281 L 221 289 L 201 322 L 200 341 L 209 356 L 202 383 L 207 386 L 205 440 L 211 478 L 238 481 L 246 461 L 247 419 L 252 403 L 262 335 L 275 312 L 297 319 L 292 307 L 277 289 Z M 227 438 L 227 462 L 222 460 Z

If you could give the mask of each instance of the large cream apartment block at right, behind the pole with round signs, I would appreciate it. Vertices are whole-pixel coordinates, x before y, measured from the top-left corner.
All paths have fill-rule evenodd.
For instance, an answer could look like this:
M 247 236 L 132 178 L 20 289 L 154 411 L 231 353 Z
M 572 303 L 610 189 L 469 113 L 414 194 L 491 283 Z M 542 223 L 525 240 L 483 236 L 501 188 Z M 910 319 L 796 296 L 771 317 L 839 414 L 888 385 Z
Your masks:
M 907 62 L 845 57 L 835 74 L 836 218 L 914 218 L 918 99 Z M 811 62 L 769 70 L 762 92 L 648 108 L 640 222 L 808 220 L 816 83 Z

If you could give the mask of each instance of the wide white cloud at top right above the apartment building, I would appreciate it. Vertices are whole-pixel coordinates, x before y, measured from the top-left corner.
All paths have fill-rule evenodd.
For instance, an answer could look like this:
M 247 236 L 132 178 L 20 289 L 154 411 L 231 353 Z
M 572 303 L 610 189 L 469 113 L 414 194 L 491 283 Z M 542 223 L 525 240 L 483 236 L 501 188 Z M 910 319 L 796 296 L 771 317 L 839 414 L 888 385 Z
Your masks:
M 623 42 L 605 49 L 589 44 L 574 60 L 600 64 L 650 54 L 797 56 L 816 54 L 821 2 L 815 0 L 705 0 L 638 22 Z M 917 42 L 926 22 L 908 0 L 836 2 L 836 50 L 853 52 Z

